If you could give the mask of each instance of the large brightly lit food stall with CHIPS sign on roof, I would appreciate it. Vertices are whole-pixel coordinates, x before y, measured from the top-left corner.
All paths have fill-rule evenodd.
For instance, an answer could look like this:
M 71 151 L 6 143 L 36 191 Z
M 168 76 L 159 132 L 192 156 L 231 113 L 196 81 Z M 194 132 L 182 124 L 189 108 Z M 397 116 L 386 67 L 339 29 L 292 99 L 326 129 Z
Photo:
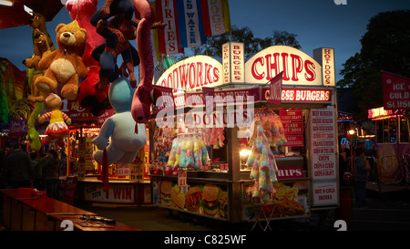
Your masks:
M 169 67 L 156 85 L 173 101 L 149 124 L 152 202 L 234 223 L 260 212 L 270 220 L 337 207 L 333 49 L 313 56 L 274 46 L 245 63 L 243 44 L 228 43 L 222 64 L 196 56 Z M 282 103 L 272 104 L 269 83 L 280 72 Z M 263 183 L 251 178 L 248 161 L 256 120 L 278 167 L 264 202 L 252 202 Z

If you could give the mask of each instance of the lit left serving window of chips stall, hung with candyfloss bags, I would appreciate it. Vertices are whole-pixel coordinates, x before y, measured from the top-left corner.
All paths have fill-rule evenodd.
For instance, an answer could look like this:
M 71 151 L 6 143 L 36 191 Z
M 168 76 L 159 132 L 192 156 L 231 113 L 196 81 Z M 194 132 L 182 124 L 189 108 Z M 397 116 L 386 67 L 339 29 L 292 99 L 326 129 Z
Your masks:
M 224 128 L 159 128 L 151 131 L 151 173 L 176 175 L 179 168 L 190 171 L 228 171 Z

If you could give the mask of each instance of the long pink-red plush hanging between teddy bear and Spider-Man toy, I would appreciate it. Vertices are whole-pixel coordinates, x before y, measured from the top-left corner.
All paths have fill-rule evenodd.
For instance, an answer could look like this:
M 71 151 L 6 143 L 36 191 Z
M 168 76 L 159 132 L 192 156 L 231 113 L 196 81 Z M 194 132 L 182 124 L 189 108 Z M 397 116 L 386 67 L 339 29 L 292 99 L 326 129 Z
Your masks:
M 78 26 L 86 29 L 87 43 L 82 60 L 88 68 L 87 77 L 80 81 L 78 86 L 78 103 L 82 108 L 89 110 L 94 116 L 100 116 L 106 109 L 111 109 L 108 100 L 108 89 L 98 90 L 99 61 L 91 57 L 92 51 L 102 43 L 104 37 L 97 34 L 95 26 L 90 24 L 91 16 L 97 11 L 97 0 L 68 0 L 66 8 Z

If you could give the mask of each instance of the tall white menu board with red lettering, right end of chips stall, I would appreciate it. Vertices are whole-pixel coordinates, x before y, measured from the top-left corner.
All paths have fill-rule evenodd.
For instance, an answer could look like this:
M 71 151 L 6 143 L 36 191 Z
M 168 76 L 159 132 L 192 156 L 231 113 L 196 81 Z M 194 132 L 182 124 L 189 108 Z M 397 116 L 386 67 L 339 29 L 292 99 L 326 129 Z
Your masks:
M 313 180 L 336 179 L 334 109 L 311 110 Z

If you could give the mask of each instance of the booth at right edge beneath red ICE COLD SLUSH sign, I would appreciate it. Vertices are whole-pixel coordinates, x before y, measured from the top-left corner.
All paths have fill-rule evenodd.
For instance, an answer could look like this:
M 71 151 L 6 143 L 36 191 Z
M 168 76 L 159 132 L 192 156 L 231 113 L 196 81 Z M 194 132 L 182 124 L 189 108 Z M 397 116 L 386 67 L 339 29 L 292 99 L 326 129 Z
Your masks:
M 410 182 L 410 78 L 382 71 L 384 106 L 368 110 L 376 128 L 379 180 Z

